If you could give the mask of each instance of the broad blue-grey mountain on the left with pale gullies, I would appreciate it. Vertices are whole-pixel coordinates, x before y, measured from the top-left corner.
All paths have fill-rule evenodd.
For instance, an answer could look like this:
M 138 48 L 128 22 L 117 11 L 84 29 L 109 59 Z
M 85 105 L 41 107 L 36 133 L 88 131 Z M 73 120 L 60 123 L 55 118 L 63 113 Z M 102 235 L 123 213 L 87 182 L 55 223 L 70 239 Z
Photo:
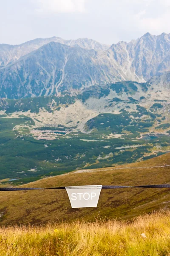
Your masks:
M 116 81 L 114 73 L 113 65 L 108 69 L 105 58 L 94 50 L 51 42 L 0 70 L 0 97 L 18 99 L 83 89 Z

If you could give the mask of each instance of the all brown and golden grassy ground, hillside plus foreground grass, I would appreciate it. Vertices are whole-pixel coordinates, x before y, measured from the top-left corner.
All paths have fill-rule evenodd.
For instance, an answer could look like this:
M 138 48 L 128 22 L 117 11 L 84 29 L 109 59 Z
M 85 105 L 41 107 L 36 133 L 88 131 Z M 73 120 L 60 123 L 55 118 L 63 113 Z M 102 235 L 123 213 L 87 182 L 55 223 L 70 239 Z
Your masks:
M 170 153 L 24 186 L 164 183 Z M 0 256 L 170 256 L 170 189 L 103 189 L 96 208 L 81 209 L 65 190 L 0 192 L 0 226 Z

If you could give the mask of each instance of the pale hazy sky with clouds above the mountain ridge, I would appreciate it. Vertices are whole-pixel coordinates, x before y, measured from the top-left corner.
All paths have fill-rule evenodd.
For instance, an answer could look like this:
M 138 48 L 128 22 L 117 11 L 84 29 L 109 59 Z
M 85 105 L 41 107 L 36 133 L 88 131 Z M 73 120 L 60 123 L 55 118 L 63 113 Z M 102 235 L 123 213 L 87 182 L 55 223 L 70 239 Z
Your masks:
M 0 0 L 0 44 L 34 38 L 101 43 L 170 33 L 170 0 Z

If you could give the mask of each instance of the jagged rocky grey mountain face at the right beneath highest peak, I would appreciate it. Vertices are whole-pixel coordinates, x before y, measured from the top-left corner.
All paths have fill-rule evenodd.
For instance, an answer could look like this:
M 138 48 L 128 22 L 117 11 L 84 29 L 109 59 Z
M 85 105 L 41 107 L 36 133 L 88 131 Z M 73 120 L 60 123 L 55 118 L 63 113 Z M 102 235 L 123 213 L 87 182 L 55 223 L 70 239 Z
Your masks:
M 110 51 L 122 68 L 125 80 L 148 81 L 152 76 L 170 70 L 170 34 L 147 33 L 130 43 L 113 44 Z

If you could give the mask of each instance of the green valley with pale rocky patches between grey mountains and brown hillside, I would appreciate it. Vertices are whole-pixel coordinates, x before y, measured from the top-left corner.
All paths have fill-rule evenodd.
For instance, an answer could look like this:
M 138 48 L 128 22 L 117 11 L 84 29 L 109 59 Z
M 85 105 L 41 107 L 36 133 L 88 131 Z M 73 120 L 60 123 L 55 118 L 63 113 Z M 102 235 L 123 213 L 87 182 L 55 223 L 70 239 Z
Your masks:
M 1 99 L 0 179 L 22 184 L 167 153 L 169 111 L 168 88 L 131 81 L 77 96 Z

